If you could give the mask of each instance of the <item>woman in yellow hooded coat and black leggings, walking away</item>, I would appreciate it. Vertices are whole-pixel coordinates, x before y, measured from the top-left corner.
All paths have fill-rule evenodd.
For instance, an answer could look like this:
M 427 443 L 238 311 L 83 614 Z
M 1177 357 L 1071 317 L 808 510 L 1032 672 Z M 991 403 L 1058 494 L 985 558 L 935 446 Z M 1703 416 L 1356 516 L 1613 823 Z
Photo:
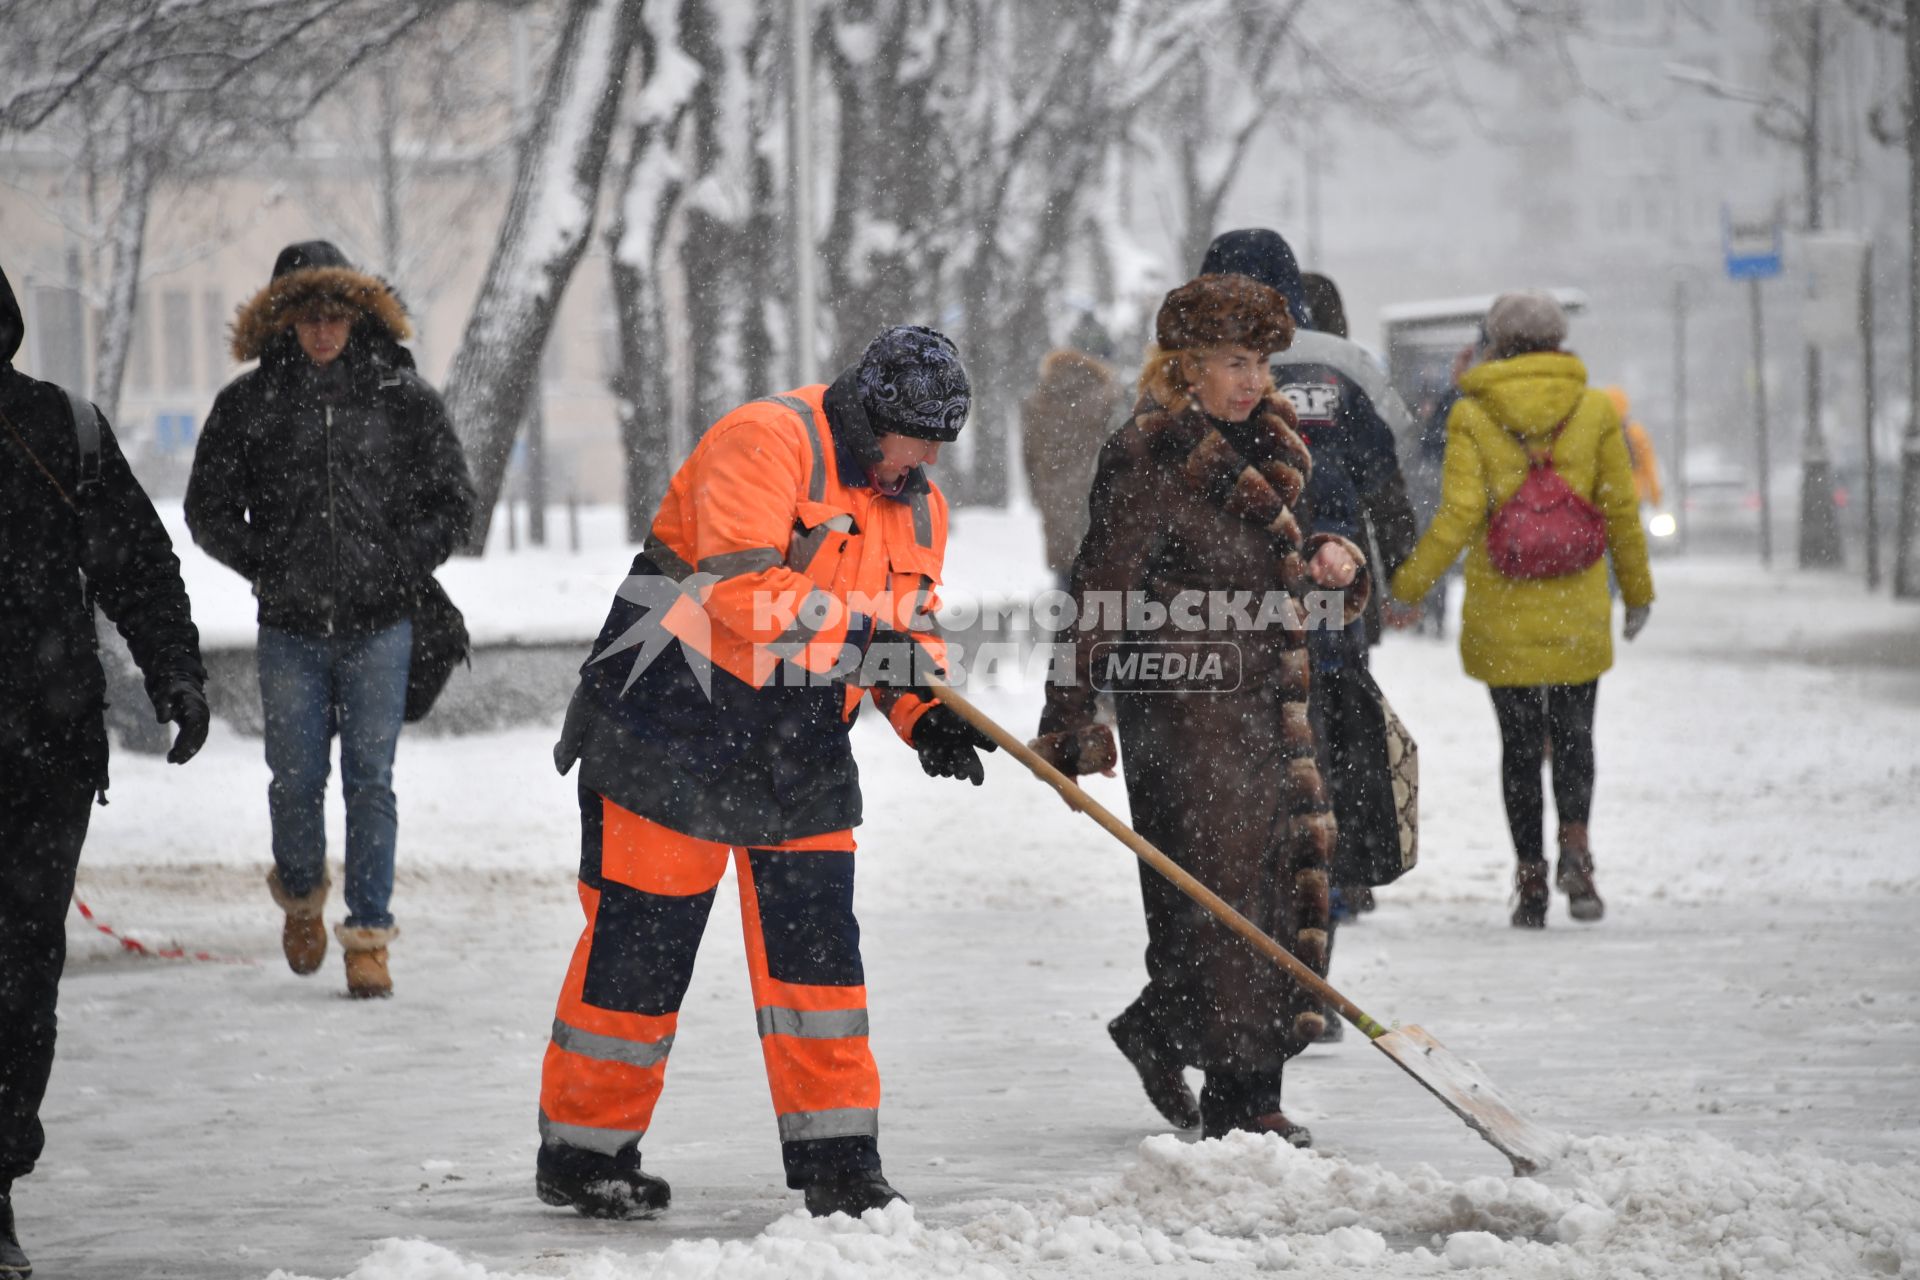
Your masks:
M 1501 794 L 1519 856 L 1513 923 L 1546 925 L 1548 864 L 1540 768 L 1553 747 L 1559 814 L 1555 883 L 1574 919 L 1605 912 L 1594 887 L 1588 814 L 1594 802 L 1594 700 L 1613 666 L 1613 601 L 1605 558 L 1561 578 L 1507 578 L 1486 555 L 1488 516 L 1526 478 L 1528 451 L 1551 447 L 1567 486 L 1607 518 L 1607 551 L 1626 603 L 1626 639 L 1647 622 L 1653 574 L 1620 418 L 1588 390 L 1586 365 L 1561 349 L 1567 315 L 1548 294 L 1503 294 L 1486 313 L 1486 361 L 1459 378 L 1448 416 L 1440 510 L 1394 574 L 1394 597 L 1413 604 L 1467 551 L 1459 654 L 1486 681 L 1500 720 Z M 1565 424 L 1565 426 L 1563 426 Z M 1559 428 L 1559 436 L 1555 436 Z M 1524 441 L 1524 443 L 1523 443 Z

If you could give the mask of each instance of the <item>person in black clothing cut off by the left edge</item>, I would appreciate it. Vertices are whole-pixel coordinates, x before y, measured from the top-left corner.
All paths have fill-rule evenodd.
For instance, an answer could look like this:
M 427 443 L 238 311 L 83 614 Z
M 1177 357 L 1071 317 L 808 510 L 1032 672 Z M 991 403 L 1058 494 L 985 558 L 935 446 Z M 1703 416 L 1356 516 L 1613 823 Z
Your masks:
M 127 637 L 159 722 L 179 723 L 167 760 L 186 764 L 207 741 L 200 635 L 167 530 L 98 411 L 15 372 L 25 334 L 0 273 L 0 1276 L 31 1270 L 12 1190 L 44 1146 L 67 902 L 108 787 L 94 603 Z

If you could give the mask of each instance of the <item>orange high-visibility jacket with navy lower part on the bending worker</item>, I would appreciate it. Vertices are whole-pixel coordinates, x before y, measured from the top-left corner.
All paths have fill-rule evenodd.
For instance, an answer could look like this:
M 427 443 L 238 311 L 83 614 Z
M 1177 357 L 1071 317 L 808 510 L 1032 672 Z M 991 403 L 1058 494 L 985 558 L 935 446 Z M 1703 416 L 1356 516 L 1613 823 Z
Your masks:
M 947 499 L 924 474 L 899 497 L 843 474 L 824 397 L 756 399 L 707 430 L 568 710 L 561 766 L 578 756 L 582 785 L 685 835 L 764 844 L 858 823 L 847 731 L 870 628 L 910 631 L 945 664 Z M 649 649 L 649 631 L 678 643 Z M 874 697 L 912 741 L 927 704 Z

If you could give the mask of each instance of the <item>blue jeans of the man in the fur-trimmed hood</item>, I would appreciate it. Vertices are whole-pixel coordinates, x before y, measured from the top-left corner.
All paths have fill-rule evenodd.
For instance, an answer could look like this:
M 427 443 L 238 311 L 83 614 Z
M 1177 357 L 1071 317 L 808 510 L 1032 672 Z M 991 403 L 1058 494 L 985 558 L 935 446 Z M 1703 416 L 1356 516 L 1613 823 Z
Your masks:
M 394 923 L 394 748 L 407 710 L 413 622 L 371 635 L 259 629 L 259 700 L 267 714 L 267 812 L 273 865 L 290 896 L 326 879 L 326 773 L 340 733 L 348 796 L 348 929 Z

